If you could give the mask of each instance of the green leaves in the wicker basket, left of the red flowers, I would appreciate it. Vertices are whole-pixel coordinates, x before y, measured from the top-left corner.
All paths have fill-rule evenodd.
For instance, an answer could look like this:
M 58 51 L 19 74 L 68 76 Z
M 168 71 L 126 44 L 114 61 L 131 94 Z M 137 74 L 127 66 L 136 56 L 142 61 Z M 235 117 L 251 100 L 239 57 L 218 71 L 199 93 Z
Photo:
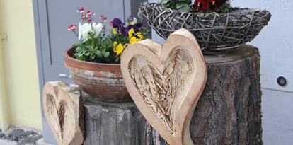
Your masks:
M 161 4 L 164 8 L 171 8 L 180 11 L 192 11 L 190 8 L 191 0 L 162 0 Z

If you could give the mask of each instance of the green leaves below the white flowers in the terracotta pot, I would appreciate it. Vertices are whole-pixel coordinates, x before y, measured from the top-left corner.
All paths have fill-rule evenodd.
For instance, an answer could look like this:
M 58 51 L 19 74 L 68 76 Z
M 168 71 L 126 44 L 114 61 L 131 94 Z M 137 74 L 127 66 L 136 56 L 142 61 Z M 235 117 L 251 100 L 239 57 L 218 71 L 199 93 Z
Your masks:
M 75 45 L 74 57 L 88 62 L 112 63 L 115 59 L 113 54 L 113 41 L 105 34 L 96 37 L 88 33 L 88 40 Z

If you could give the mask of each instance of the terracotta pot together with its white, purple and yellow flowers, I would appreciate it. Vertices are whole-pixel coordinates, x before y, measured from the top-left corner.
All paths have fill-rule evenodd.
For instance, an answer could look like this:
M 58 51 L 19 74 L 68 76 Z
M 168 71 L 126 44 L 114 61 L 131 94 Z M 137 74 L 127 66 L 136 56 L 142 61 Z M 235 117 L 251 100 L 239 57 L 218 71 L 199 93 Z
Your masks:
M 108 22 L 106 16 L 93 21 L 96 15 L 79 8 L 81 22 L 69 25 L 79 42 L 64 52 L 64 62 L 74 82 L 93 98 L 108 102 L 131 100 L 120 71 L 120 56 L 127 45 L 143 40 L 147 30 L 137 18 L 130 16 L 126 22 L 120 18 Z

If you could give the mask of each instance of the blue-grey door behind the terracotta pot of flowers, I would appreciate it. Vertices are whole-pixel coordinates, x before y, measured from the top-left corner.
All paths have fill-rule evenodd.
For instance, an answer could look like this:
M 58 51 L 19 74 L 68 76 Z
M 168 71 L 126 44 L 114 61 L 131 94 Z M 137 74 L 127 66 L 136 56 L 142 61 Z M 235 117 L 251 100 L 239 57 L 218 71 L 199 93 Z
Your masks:
M 104 14 L 109 20 L 118 17 L 125 19 L 136 14 L 139 2 L 144 0 L 33 0 L 35 35 L 38 53 L 40 92 L 46 81 L 67 81 L 72 83 L 69 72 L 64 67 L 63 52 L 71 47 L 77 38 L 68 32 L 67 26 L 79 23 L 78 7 Z M 47 142 L 55 143 L 42 110 L 43 135 Z

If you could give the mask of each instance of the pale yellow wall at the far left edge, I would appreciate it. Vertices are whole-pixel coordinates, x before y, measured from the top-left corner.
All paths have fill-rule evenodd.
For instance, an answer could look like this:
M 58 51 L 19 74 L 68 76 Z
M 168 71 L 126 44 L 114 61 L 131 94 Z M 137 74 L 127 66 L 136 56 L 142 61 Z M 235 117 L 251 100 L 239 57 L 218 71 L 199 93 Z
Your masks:
M 42 129 L 33 2 L 0 0 L 0 23 L 0 33 L 7 35 L 7 40 L 2 41 L 0 48 L 3 53 L 0 53 L 0 57 L 3 57 L 0 61 L 4 62 L 0 69 L 4 70 L 6 76 L 9 123 Z M 1 105 L 0 108 L 3 110 L 4 106 Z

